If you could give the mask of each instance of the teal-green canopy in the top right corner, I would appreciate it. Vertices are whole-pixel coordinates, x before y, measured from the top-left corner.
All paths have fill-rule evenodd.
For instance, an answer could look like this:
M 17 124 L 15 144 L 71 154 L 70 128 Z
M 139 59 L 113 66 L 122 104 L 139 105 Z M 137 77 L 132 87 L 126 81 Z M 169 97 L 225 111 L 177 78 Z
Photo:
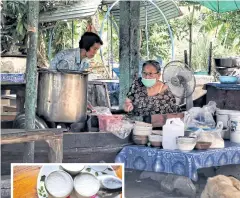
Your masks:
M 222 1 L 222 0 L 215 0 L 215 1 L 194 1 L 198 2 L 201 5 L 209 8 L 212 11 L 223 13 L 223 12 L 230 12 L 240 10 L 240 1 Z

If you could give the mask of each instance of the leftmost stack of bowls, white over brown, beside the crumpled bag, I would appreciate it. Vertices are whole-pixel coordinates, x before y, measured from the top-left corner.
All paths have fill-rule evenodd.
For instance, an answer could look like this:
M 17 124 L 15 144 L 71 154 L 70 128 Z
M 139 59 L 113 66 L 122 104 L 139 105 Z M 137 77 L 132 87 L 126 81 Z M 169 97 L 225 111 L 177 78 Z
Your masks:
M 148 136 L 152 133 L 152 124 L 135 122 L 133 128 L 133 141 L 135 144 L 145 145 L 148 143 Z

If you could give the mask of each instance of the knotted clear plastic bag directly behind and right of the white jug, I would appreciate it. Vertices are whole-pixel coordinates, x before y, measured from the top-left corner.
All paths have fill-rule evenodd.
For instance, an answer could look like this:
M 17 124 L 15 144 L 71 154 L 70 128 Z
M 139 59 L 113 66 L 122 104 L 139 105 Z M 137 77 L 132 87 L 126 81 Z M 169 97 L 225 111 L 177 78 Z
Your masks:
M 216 102 L 210 101 L 207 105 L 200 107 L 193 107 L 185 113 L 184 123 L 187 128 L 202 128 L 213 129 L 216 123 L 213 119 L 213 114 L 217 109 Z

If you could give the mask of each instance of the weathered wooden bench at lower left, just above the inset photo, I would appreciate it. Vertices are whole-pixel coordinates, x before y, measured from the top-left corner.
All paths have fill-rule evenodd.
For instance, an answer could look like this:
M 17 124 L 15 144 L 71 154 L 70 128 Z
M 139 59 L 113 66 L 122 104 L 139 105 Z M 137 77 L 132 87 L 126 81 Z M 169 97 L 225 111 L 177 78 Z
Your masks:
M 2 129 L 1 144 L 26 143 L 44 140 L 49 145 L 50 163 L 63 160 L 63 132 L 66 129 Z

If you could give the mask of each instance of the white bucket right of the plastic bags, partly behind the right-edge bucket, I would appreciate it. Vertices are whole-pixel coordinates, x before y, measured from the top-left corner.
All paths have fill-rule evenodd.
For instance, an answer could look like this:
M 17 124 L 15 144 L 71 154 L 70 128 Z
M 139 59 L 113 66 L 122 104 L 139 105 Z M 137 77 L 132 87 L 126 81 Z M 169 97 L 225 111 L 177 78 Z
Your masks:
M 240 111 L 235 110 L 225 110 L 218 109 L 216 111 L 217 122 L 221 121 L 223 123 L 223 127 L 225 128 L 222 131 L 223 139 L 230 139 L 230 130 L 229 130 L 229 117 L 230 115 L 240 115 Z

